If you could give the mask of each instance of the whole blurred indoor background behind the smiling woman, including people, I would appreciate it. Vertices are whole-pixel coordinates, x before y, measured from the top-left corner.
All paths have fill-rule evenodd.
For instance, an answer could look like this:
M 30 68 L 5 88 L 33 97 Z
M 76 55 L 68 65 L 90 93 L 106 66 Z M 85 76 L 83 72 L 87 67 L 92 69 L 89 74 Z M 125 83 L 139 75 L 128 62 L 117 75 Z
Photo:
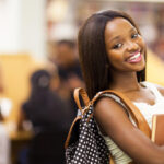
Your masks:
M 148 45 L 147 80 L 164 85 L 164 0 L 0 0 L 0 164 L 65 163 L 72 92 L 84 87 L 77 34 L 107 9 L 137 22 Z

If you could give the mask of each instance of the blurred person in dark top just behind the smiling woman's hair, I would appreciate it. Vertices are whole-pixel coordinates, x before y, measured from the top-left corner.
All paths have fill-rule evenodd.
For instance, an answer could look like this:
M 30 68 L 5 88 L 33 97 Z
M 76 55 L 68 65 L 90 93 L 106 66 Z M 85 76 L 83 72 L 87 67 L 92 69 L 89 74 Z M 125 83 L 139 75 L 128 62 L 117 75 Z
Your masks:
M 82 73 L 77 55 L 77 45 L 73 40 L 62 39 L 56 43 L 50 61 L 57 66 L 60 85 L 58 89 L 61 97 L 70 103 L 72 117 L 77 115 L 77 105 L 73 99 L 73 90 L 83 86 Z M 73 119 L 72 118 L 72 119 Z

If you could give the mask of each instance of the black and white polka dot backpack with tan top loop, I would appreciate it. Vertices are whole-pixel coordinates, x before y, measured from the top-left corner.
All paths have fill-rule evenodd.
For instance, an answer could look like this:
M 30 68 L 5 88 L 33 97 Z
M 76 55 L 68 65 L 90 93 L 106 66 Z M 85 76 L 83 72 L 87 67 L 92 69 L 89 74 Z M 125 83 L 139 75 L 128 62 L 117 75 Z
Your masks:
M 82 109 L 79 93 L 85 104 Z M 74 119 L 66 140 L 67 164 L 108 164 L 109 152 L 105 140 L 98 132 L 93 116 L 93 105 L 83 89 L 75 89 L 74 99 L 81 112 Z

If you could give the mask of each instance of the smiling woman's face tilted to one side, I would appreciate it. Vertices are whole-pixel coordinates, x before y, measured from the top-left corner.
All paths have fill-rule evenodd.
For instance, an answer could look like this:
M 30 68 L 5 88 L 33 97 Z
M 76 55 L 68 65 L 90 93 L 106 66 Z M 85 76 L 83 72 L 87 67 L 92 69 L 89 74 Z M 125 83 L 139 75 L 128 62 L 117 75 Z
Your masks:
M 126 19 L 116 17 L 107 23 L 105 44 L 112 69 L 122 72 L 144 69 L 144 40 Z

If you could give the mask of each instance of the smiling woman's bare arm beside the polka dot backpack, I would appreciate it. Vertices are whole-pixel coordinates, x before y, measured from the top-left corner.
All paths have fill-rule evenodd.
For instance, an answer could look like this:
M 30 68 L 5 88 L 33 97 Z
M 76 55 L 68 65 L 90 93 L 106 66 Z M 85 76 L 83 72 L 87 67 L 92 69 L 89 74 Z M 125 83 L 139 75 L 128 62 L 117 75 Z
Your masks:
M 94 115 L 102 130 L 136 163 L 164 164 L 164 147 L 157 147 L 134 127 L 124 108 L 114 99 L 99 99 Z

